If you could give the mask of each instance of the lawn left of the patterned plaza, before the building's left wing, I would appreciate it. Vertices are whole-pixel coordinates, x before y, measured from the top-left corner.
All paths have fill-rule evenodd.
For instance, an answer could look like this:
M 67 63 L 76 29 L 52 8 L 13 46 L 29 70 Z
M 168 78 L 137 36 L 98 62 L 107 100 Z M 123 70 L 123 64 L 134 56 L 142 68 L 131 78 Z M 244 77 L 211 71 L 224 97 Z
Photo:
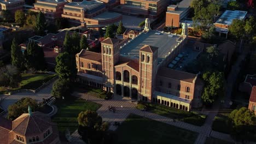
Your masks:
M 53 122 L 57 123 L 58 130 L 61 134 L 65 133 L 67 128 L 71 134 L 77 129 L 77 117 L 81 111 L 96 111 L 101 107 L 100 104 L 74 97 L 66 100 L 57 100 L 55 105 L 58 107 L 58 112 L 53 117 Z

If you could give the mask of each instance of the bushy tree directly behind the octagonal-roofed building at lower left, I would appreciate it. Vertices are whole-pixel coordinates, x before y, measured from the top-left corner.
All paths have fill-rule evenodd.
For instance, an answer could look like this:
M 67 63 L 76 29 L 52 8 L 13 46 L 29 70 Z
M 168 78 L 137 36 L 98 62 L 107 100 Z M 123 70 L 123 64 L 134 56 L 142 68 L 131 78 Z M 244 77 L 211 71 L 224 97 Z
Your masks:
M 38 104 L 36 100 L 28 97 L 22 98 L 15 104 L 8 107 L 8 118 L 13 121 L 14 119 L 22 115 L 22 113 L 28 113 L 28 106 L 30 106 L 33 111 L 36 111 L 38 109 Z

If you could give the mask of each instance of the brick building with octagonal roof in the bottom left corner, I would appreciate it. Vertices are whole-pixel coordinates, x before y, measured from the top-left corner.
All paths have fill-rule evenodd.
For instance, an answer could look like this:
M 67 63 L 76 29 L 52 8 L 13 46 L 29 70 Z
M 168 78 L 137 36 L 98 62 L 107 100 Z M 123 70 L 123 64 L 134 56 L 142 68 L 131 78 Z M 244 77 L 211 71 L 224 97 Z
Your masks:
M 0 122 L 1 143 L 60 143 L 57 124 L 42 112 L 29 110 L 14 121 L 0 117 Z

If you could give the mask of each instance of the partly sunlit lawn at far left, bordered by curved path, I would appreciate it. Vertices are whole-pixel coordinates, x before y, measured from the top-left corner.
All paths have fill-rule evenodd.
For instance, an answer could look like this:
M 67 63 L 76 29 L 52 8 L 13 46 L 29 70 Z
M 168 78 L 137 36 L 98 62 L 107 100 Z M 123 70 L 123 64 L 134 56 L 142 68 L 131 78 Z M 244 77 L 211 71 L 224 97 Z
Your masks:
M 20 89 L 37 89 L 43 83 L 53 79 L 56 75 L 53 74 L 21 74 L 21 82 L 19 87 L 11 88 L 10 91 L 17 91 Z M 0 93 L 8 93 L 6 88 L 0 87 Z

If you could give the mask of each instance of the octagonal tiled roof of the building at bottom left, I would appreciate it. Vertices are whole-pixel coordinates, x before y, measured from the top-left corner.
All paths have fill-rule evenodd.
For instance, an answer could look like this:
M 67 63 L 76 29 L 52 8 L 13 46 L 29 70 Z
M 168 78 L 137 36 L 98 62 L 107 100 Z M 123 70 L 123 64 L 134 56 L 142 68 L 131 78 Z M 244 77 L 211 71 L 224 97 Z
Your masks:
M 20 135 L 32 136 L 42 134 L 51 124 L 50 117 L 42 112 L 33 112 L 32 115 L 23 113 L 13 121 L 13 131 Z

